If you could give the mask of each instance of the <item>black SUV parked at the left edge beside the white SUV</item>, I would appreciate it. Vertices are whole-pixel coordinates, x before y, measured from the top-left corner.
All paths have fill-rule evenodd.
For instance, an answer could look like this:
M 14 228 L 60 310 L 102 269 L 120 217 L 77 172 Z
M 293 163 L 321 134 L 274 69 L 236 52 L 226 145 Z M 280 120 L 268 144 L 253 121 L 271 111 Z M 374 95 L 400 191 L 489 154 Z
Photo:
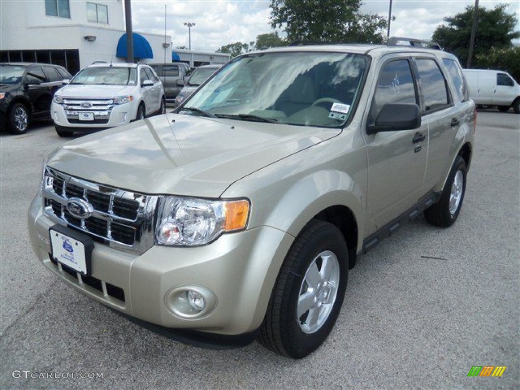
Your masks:
M 48 63 L 0 63 L 0 129 L 23 134 L 34 119 L 50 116 L 54 93 L 71 74 Z

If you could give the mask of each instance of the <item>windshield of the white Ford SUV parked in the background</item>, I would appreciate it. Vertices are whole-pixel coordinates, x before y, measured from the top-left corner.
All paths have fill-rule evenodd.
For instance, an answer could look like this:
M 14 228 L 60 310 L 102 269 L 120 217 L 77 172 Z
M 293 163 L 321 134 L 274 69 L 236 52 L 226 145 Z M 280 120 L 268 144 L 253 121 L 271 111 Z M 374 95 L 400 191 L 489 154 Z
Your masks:
M 127 67 L 90 67 L 76 74 L 71 84 L 137 85 L 137 71 Z

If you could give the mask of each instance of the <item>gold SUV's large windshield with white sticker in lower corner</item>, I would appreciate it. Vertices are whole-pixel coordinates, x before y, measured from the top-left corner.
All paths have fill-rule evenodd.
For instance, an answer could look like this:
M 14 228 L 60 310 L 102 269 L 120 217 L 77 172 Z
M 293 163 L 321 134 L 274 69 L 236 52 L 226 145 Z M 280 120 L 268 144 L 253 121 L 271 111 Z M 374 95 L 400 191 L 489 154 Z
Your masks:
M 340 127 L 353 114 L 368 58 L 260 53 L 231 61 L 180 109 L 187 115 Z

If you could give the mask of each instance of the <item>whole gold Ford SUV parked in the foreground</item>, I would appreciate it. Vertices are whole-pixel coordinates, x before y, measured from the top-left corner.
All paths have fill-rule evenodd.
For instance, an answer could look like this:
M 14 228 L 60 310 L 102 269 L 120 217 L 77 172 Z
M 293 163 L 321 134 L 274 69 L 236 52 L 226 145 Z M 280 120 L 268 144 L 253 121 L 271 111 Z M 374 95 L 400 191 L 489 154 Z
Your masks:
M 143 323 L 308 355 L 357 255 L 461 210 L 475 106 L 456 57 L 412 44 L 248 53 L 172 113 L 68 142 L 30 206 L 35 253 Z

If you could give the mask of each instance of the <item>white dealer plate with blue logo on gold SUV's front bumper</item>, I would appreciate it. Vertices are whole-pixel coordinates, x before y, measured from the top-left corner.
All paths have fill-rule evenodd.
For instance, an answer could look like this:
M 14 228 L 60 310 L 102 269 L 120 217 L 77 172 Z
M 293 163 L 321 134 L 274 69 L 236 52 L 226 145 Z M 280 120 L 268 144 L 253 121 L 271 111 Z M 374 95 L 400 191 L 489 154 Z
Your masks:
M 85 245 L 80 240 L 69 237 L 53 228 L 49 229 L 50 245 L 53 257 L 75 271 L 87 274 Z

